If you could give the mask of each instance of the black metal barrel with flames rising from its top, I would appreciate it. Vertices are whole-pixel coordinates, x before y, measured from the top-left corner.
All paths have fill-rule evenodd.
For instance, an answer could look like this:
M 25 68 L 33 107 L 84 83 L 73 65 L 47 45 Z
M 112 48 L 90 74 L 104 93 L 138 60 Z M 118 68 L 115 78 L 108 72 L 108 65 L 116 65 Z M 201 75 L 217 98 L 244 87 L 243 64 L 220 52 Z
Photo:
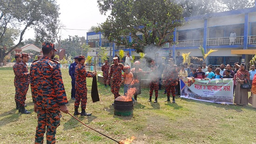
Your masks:
M 114 114 L 120 116 L 133 115 L 133 101 L 114 101 Z

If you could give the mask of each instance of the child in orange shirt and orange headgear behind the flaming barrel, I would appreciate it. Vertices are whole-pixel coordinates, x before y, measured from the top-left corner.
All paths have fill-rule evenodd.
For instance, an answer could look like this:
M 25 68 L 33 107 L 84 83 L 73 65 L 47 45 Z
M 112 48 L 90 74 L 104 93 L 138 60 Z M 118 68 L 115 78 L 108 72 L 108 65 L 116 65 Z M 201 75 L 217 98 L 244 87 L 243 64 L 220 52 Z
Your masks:
M 123 80 L 119 83 L 119 87 L 124 82 L 124 96 L 126 96 L 128 89 L 130 88 L 131 83 L 134 80 L 134 78 L 133 78 L 133 73 L 131 73 L 130 66 L 128 66 L 128 65 L 124 66 L 123 70 L 124 70 Z

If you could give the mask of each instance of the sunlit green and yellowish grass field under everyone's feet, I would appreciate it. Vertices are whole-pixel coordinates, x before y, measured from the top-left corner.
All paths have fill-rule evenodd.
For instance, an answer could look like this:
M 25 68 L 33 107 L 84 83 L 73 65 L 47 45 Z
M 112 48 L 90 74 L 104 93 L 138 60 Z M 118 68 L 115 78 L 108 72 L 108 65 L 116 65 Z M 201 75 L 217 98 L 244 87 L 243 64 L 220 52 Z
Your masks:
M 70 100 L 71 79 L 67 69 L 61 69 L 68 96 L 68 109 L 74 113 Z M 33 144 L 36 113 L 20 114 L 15 109 L 12 68 L 0 68 L 0 144 Z M 135 136 L 133 144 L 256 144 L 256 109 L 249 106 L 220 105 L 209 102 L 176 98 L 167 103 L 159 91 L 158 103 L 148 102 L 148 89 L 142 89 L 135 103 L 134 115 L 114 115 L 111 105 L 114 96 L 109 88 L 98 84 L 101 101 L 90 97 L 92 79 L 87 79 L 88 104 L 92 116 L 77 116 L 88 126 L 116 140 Z M 120 94 L 123 94 L 121 88 Z M 27 110 L 33 111 L 30 89 Z M 81 111 L 81 109 L 80 109 Z M 62 113 L 56 133 L 57 144 L 115 144 L 114 141 L 81 125 Z M 46 144 L 46 138 L 45 138 Z

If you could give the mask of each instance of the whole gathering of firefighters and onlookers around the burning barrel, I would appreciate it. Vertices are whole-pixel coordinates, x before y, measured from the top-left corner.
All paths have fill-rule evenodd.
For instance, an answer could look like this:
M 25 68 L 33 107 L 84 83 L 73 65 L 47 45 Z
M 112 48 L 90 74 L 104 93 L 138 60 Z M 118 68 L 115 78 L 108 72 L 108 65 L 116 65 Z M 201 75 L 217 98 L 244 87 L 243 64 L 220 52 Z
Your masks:
M 54 44 L 43 43 L 43 56 L 38 56 L 38 60 L 34 61 L 27 68 L 29 54 L 16 54 L 16 63 L 13 65 L 14 86 L 15 86 L 15 103 L 19 113 L 29 114 L 25 108 L 25 100 L 29 84 L 31 86 L 32 99 L 34 103 L 34 112 L 37 113 L 38 125 L 36 127 L 35 144 L 42 144 L 44 133 L 46 133 L 47 144 L 55 143 L 55 133 L 60 125 L 61 113 L 69 113 L 67 109 L 67 95 L 62 81 L 60 63 L 54 60 L 55 56 Z M 75 56 L 75 62 L 69 67 L 69 75 L 71 76 L 72 90 L 71 99 L 74 99 L 74 115 L 90 116 L 91 113 L 86 113 L 87 105 L 87 77 L 94 77 L 96 72 L 89 72 L 85 68 L 85 56 Z M 206 63 L 199 65 L 194 69 L 193 64 L 183 63 L 183 57 L 180 52 L 177 53 L 175 59 L 169 52 L 169 55 L 162 59 L 156 53 L 156 57 L 150 60 L 147 71 L 141 69 L 139 61 L 134 62 L 132 68 L 132 56 L 127 53 L 126 65 L 120 63 L 118 56 L 113 58 L 114 64 L 109 65 L 108 61 L 101 67 L 104 77 L 105 87 L 111 87 L 111 92 L 114 94 L 114 99 L 121 96 L 119 90 L 121 84 L 124 83 L 124 94 L 128 94 L 130 88 L 136 88 L 134 100 L 137 101 L 138 94 L 141 94 L 141 76 L 148 75 L 149 82 L 149 99 L 152 101 L 153 92 L 155 91 L 154 103 L 158 102 L 158 91 L 162 85 L 165 86 L 167 100 L 175 103 L 176 94 L 180 94 L 179 78 L 192 77 L 198 79 L 215 79 L 215 78 L 232 78 L 234 80 L 234 103 L 237 105 L 248 105 L 248 89 L 243 89 L 241 85 L 250 83 L 252 85 L 251 95 L 252 106 L 256 108 L 256 69 L 255 65 L 251 66 L 251 70 L 246 69 L 244 63 L 235 63 L 234 71 L 230 64 L 221 64 L 217 69 Z M 124 74 L 122 75 L 122 71 Z M 123 78 L 123 79 L 122 79 Z M 78 108 L 81 103 L 81 113 Z

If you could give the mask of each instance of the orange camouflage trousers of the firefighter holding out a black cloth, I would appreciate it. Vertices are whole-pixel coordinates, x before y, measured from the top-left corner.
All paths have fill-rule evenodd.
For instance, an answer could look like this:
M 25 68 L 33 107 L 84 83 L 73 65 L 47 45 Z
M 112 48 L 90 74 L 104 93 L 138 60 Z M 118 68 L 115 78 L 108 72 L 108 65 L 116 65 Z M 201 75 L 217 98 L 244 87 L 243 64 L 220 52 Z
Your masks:
M 87 104 L 87 88 L 75 91 L 74 108 L 79 108 L 81 101 L 81 108 L 86 109 Z

